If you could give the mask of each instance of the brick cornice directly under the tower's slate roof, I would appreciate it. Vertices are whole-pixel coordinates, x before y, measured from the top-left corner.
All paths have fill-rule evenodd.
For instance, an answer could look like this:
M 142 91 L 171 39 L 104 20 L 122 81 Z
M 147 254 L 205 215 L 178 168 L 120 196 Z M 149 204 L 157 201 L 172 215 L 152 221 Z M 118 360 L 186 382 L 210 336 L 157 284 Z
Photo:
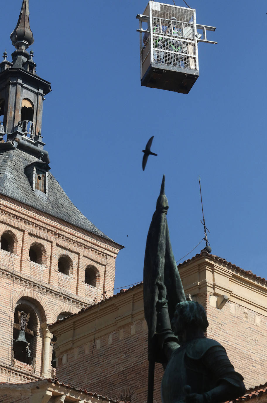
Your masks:
M 2 202 L 1 198 L 3 198 L 3 197 L 5 199 L 7 199 L 8 203 Z M 4 214 L 2 214 L 2 218 L 3 218 L 3 221 L 5 221 L 5 219 L 8 220 L 9 225 L 14 226 L 15 228 L 20 229 L 21 231 L 23 231 L 25 229 L 25 225 L 34 226 L 35 228 L 30 229 L 29 232 L 35 236 L 38 236 L 39 238 L 46 239 L 47 241 L 52 241 L 53 237 L 56 237 L 59 239 L 59 241 L 60 240 L 65 241 L 66 243 L 73 245 L 72 246 L 73 248 L 75 248 L 75 247 L 79 248 L 79 249 L 83 248 L 83 249 L 85 249 L 85 252 L 88 251 L 89 253 L 97 253 L 97 255 L 99 255 L 102 259 L 106 258 L 106 255 L 101 251 L 103 249 L 107 252 L 110 252 L 111 256 L 113 256 L 113 257 L 115 257 L 117 255 L 117 251 L 115 251 L 113 248 L 107 247 L 107 245 L 102 245 L 102 244 L 96 242 L 94 239 L 91 239 L 91 237 L 89 237 L 89 235 L 86 238 L 85 236 L 82 236 L 82 234 L 80 234 L 80 232 L 76 231 L 75 229 L 73 231 L 68 231 L 68 229 L 66 229 L 64 227 L 64 225 L 60 223 L 60 220 L 58 220 L 59 221 L 58 225 L 62 226 L 62 230 L 61 230 L 62 234 L 60 234 L 58 225 L 54 224 L 53 222 L 47 223 L 47 221 L 43 220 L 36 213 L 37 210 L 32 208 L 33 213 L 36 214 L 36 220 L 38 222 L 38 223 L 35 223 L 33 220 L 33 214 L 32 213 L 29 214 L 29 212 L 25 208 L 25 205 L 23 205 L 19 202 L 16 202 L 16 201 L 14 204 L 12 204 L 12 202 L 10 202 L 10 200 L 12 200 L 12 199 L 8 199 L 8 197 L 0 195 L 0 207 L 3 208 L 3 213 L 4 213 Z M 10 206 L 10 204 L 11 204 L 11 206 Z M 5 211 L 4 211 L 4 209 L 5 209 Z M 22 214 L 21 209 L 24 209 L 23 214 Z M 11 210 L 11 211 L 7 211 L 7 210 Z M 14 216 L 13 211 L 16 212 L 16 216 Z M 41 213 L 41 215 L 43 216 L 44 214 Z M 47 215 L 47 219 L 52 221 L 48 215 Z M 21 221 L 21 222 L 18 222 L 18 221 Z M 62 221 L 62 223 L 63 223 L 63 221 Z M 49 227 L 51 227 L 51 229 Z M 38 231 L 38 230 L 41 230 L 43 232 Z M 74 231 L 76 231 L 76 232 L 74 233 Z M 47 233 L 47 235 L 45 233 Z M 85 231 L 84 231 L 84 233 L 85 233 Z M 66 237 L 66 234 L 79 238 L 79 241 L 77 242 L 71 238 Z M 102 239 L 101 239 L 101 241 L 102 241 Z M 98 248 L 98 250 L 94 250 L 94 249 L 88 247 L 88 245 L 86 245 L 86 243 L 88 243 L 88 242 L 92 243 L 92 245 L 94 245 L 96 247 L 96 249 Z

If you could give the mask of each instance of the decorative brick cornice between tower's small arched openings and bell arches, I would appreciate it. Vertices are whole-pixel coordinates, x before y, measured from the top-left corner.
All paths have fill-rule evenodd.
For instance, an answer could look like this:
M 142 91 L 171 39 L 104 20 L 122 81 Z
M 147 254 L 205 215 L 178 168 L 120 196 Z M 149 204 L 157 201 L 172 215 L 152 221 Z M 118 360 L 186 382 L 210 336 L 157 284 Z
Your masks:
M 73 294 L 60 292 L 56 288 L 48 287 L 46 283 L 33 281 L 32 278 L 25 276 L 22 273 L 11 272 L 9 270 L 0 268 L 0 277 L 10 279 L 14 278 L 16 284 L 21 285 L 22 287 L 31 289 L 41 295 L 47 295 L 49 297 L 55 298 L 57 301 L 73 305 L 77 309 L 88 306 L 88 301 L 86 299 L 82 300 L 81 298 L 78 298 Z

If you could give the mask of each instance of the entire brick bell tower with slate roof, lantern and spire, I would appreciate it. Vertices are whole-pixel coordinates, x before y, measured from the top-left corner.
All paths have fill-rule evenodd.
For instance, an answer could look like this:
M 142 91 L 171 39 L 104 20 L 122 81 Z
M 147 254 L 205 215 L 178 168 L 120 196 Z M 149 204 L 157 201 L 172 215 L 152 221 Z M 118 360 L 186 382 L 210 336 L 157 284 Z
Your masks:
M 0 63 L 0 382 L 55 376 L 48 325 L 113 295 L 123 247 L 88 220 L 49 167 L 41 135 L 50 83 L 37 76 L 29 0 Z M 1 400 L 1 399 L 0 399 Z

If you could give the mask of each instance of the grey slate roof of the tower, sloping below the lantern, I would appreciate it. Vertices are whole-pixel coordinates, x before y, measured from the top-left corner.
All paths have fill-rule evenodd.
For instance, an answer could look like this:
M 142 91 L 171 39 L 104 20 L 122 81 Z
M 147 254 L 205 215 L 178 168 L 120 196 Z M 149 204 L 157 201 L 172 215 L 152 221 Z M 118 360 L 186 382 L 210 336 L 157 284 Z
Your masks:
M 0 194 L 112 241 L 74 206 L 50 172 L 48 172 L 48 197 L 42 197 L 32 190 L 24 168 L 35 161 L 37 161 L 35 156 L 18 148 L 0 150 Z

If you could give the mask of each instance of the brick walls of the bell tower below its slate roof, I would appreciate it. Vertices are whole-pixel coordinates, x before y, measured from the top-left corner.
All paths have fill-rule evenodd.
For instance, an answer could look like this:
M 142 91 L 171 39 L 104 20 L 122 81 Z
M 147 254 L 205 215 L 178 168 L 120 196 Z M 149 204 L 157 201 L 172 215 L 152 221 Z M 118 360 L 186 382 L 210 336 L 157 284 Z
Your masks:
M 114 287 L 118 245 L 0 195 L 0 236 L 13 240 L 12 253 L 0 249 L 0 381 L 30 382 L 43 368 L 43 335 L 58 315 L 78 312 L 100 300 Z M 12 243 L 12 242 L 11 242 Z M 41 261 L 29 259 L 31 245 L 41 250 Z M 70 275 L 58 270 L 58 259 L 68 256 Z M 84 282 L 92 265 L 99 273 L 97 287 Z M 107 292 L 108 296 L 113 291 Z M 12 359 L 14 310 L 23 303 L 37 315 L 36 362 Z M 50 356 L 52 347 L 50 347 Z M 50 361 L 49 361 L 50 362 Z M 49 372 L 53 376 L 51 366 Z

